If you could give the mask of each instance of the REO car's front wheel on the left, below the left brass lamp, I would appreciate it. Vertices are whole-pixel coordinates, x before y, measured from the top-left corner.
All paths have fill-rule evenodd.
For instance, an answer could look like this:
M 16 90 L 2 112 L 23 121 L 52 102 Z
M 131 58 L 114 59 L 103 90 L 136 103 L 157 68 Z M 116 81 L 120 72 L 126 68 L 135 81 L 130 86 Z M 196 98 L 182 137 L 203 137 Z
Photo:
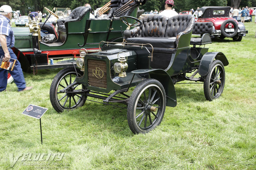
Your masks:
M 79 69 L 77 69 L 79 77 L 83 75 Z M 71 83 L 76 81 L 76 71 L 75 68 L 64 68 L 54 77 L 52 80 L 50 88 L 50 101 L 52 107 L 57 112 L 63 112 L 64 110 L 74 110 L 84 105 L 84 102 L 87 99 L 87 96 L 84 94 L 70 94 L 70 93 L 61 93 L 60 90 L 67 87 Z M 75 85 L 68 89 L 68 91 L 79 91 L 86 89 L 84 85 Z M 63 100 L 64 99 L 64 100 Z

